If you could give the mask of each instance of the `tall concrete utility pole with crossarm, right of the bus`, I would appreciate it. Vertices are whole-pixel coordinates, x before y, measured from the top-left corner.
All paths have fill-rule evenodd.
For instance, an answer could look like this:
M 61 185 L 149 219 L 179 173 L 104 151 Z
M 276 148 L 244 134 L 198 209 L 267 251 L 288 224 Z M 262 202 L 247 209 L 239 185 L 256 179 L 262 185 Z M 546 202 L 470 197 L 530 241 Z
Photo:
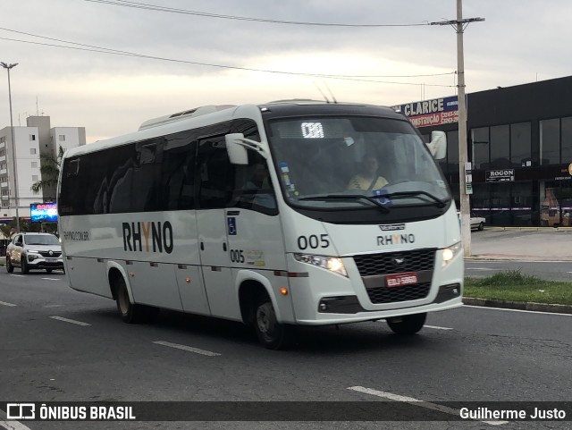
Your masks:
M 467 156 L 467 100 L 465 99 L 463 32 L 469 23 L 477 21 L 484 21 L 484 18 L 463 19 L 463 1 L 457 0 L 457 20 L 430 23 L 430 25 L 450 25 L 457 32 L 458 195 L 461 205 L 461 240 L 465 257 L 471 256 L 471 207 L 468 196 L 472 194 L 473 190 L 472 184 L 470 182 L 467 184 L 467 171 L 470 172 L 472 169 L 468 164 Z

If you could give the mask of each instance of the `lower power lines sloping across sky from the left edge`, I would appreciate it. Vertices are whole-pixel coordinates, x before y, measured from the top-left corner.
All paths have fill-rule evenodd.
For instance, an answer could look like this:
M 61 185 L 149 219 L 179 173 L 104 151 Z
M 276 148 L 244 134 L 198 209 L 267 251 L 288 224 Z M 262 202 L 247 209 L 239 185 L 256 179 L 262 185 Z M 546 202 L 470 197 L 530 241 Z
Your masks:
M 36 42 L 36 41 L 32 41 L 32 40 L 21 40 L 21 39 L 15 39 L 15 38 L 2 38 L 2 37 L 0 37 L 0 39 L 2 39 L 2 40 L 8 40 L 8 41 L 19 42 L 19 43 L 27 43 L 30 45 L 59 47 L 59 48 L 63 48 L 63 49 L 72 49 L 72 50 L 76 50 L 76 51 L 97 52 L 100 54 L 108 54 L 108 55 L 131 56 L 131 57 L 137 57 L 137 58 L 145 58 L 145 59 L 149 59 L 149 60 L 159 60 L 159 61 L 165 61 L 165 62 L 171 62 L 171 63 L 185 63 L 185 64 L 193 64 L 193 65 L 200 65 L 200 66 L 206 66 L 206 67 L 216 67 L 216 68 L 220 68 L 220 69 L 240 70 L 240 71 L 245 71 L 245 72 L 265 72 L 265 73 L 286 74 L 286 75 L 293 75 L 293 76 L 310 76 L 310 77 L 315 77 L 315 78 L 334 79 L 334 80 L 356 80 L 356 81 L 362 81 L 362 82 L 385 83 L 385 84 L 396 84 L 396 85 L 420 85 L 419 83 L 416 83 L 416 82 L 391 82 L 391 81 L 368 79 L 368 78 L 383 78 L 384 76 L 367 76 L 367 75 L 351 76 L 351 75 L 334 75 L 334 74 L 308 73 L 308 72 L 285 72 L 285 71 L 273 71 L 273 70 L 254 69 L 254 68 L 240 67 L 240 66 L 231 66 L 231 65 L 226 65 L 226 64 L 201 63 L 201 62 L 181 60 L 181 59 L 176 59 L 176 58 L 167 58 L 167 57 L 156 56 L 156 55 L 144 55 L 144 54 L 132 53 L 129 51 L 122 51 L 122 50 L 107 48 L 107 47 L 102 47 L 102 46 L 81 44 L 81 43 L 77 43 L 77 42 L 71 42 L 69 40 L 63 40 L 63 39 L 59 39 L 59 38 L 48 38 L 45 36 L 39 36 L 39 35 L 35 35 L 32 33 L 26 33 L 26 32 L 18 31 L 18 30 L 5 29 L 2 27 L 0 27 L 0 30 L 19 33 L 19 34 L 23 34 L 23 35 L 30 36 L 33 38 L 42 38 L 42 39 L 51 40 L 51 41 L 55 41 L 55 42 L 66 43 L 66 44 L 72 45 L 72 46 L 64 46 L 64 45 L 56 45 L 56 44 L 52 44 L 52 43 Z M 454 74 L 454 73 L 455 72 L 435 73 L 433 75 L 392 76 L 392 78 L 444 76 L 444 75 L 450 75 L 450 74 Z M 388 76 L 385 76 L 385 77 L 388 77 Z M 438 84 L 424 84 L 424 85 L 433 86 L 433 87 L 451 87 L 450 85 L 438 85 Z

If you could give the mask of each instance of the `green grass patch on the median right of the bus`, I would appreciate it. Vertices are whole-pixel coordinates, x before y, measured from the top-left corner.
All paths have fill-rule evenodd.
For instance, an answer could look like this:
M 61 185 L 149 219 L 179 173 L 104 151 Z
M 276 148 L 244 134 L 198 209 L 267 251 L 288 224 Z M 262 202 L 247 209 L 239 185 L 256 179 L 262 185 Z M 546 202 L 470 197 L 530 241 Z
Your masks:
M 545 281 L 521 274 L 520 270 L 500 272 L 486 278 L 465 278 L 464 296 L 572 305 L 572 282 Z

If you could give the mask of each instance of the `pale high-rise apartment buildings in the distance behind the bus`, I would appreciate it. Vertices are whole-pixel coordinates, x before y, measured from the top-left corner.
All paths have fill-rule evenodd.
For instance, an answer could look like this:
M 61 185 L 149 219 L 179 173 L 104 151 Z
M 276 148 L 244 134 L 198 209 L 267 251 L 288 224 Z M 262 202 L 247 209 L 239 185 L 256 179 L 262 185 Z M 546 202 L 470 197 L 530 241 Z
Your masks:
M 85 127 L 50 127 L 49 116 L 29 116 L 26 126 L 10 126 L 0 130 L 0 220 L 11 220 L 16 215 L 14 184 L 18 185 L 18 213 L 29 218 L 29 205 L 55 201 L 55 186 L 31 190 L 32 184 L 41 181 L 41 157 L 57 157 L 59 147 L 63 150 L 86 143 Z M 16 164 L 14 174 L 14 161 Z M 16 178 L 16 181 L 14 181 Z

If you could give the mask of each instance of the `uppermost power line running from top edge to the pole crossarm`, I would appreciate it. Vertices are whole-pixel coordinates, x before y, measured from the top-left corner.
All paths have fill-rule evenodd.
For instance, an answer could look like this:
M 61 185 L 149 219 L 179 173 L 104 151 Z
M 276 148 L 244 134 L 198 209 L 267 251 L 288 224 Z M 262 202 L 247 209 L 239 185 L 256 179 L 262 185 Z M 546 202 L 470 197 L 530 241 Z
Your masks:
M 146 4 L 139 2 L 130 2 L 127 0 L 85 0 L 85 1 L 91 3 L 100 3 L 100 4 L 112 4 L 114 6 L 132 7 L 135 9 L 144 9 L 156 12 L 181 13 L 185 15 L 204 16 L 207 18 L 218 18 L 223 20 L 255 21 L 255 22 L 267 22 L 272 24 L 307 25 L 307 26 L 321 26 L 321 27 L 354 27 L 354 28 L 418 27 L 418 26 L 429 25 L 428 22 L 421 22 L 416 24 L 345 24 L 345 23 L 333 23 L 333 22 L 282 21 L 282 20 L 270 20 L 265 18 L 253 18 L 247 16 L 223 15 L 220 13 L 189 11 L 188 9 L 177 9 L 174 7 L 166 7 L 166 6 L 159 6 L 156 4 Z

